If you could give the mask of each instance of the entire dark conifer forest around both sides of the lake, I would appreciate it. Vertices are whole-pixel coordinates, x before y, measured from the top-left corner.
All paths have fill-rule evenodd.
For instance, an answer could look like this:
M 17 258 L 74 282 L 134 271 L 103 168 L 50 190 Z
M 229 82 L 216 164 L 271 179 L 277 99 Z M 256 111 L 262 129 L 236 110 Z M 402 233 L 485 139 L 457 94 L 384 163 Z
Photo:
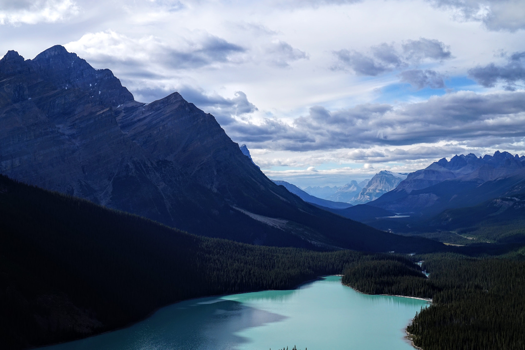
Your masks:
M 432 298 L 407 328 L 425 350 L 525 347 L 523 248 L 410 256 L 255 246 L 188 234 L 6 177 L 0 209 L 6 348 L 112 330 L 188 298 L 291 289 L 341 273 L 363 293 Z

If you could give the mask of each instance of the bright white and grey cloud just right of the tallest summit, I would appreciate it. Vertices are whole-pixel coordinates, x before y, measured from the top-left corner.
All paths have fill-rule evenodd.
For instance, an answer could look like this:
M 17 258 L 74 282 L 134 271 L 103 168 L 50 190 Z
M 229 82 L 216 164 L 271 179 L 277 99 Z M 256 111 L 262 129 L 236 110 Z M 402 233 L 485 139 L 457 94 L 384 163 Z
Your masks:
M 244 47 L 207 33 L 167 43 L 153 36 L 131 38 L 112 30 L 87 33 L 66 47 L 93 66 L 110 66 L 132 85 L 134 78 L 162 80 L 177 70 L 237 64 L 239 60 L 233 57 L 246 52 Z

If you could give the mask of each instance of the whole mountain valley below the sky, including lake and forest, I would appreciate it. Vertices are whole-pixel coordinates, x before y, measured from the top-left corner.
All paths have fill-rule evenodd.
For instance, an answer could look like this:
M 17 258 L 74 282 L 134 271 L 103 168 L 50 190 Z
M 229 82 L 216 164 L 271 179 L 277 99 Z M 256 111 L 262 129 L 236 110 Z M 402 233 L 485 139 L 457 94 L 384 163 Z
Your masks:
M 61 45 L 0 59 L 0 122 L 8 349 L 522 347 L 525 156 L 302 190 L 178 92 L 139 102 Z

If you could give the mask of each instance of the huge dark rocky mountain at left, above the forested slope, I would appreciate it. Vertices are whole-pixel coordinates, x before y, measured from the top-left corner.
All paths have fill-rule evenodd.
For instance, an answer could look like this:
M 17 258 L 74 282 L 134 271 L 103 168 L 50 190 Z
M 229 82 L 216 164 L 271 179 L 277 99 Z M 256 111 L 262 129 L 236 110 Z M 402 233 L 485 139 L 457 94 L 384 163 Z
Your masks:
M 60 45 L 0 59 L 0 126 L 1 173 L 190 233 L 310 249 L 421 244 L 302 201 L 177 92 L 135 101 Z

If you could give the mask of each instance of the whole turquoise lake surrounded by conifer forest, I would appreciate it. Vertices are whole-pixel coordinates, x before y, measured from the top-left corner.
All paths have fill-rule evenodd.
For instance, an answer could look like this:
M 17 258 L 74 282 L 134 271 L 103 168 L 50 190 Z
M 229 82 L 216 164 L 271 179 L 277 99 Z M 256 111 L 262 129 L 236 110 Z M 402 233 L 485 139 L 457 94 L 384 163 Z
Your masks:
M 166 306 L 122 330 L 46 350 L 414 350 L 404 338 L 424 300 L 366 295 L 328 276 L 291 291 Z

